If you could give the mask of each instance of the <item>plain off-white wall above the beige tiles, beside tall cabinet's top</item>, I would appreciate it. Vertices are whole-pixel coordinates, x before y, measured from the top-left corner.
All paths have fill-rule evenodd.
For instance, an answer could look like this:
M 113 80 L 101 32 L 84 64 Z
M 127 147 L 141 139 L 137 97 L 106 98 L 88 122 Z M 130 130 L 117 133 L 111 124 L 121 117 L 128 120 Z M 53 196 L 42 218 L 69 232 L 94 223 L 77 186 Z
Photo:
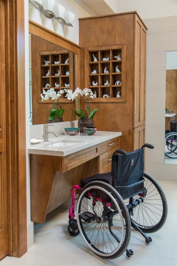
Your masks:
M 141 18 L 176 16 L 176 0 L 117 0 L 117 13 L 136 10 Z

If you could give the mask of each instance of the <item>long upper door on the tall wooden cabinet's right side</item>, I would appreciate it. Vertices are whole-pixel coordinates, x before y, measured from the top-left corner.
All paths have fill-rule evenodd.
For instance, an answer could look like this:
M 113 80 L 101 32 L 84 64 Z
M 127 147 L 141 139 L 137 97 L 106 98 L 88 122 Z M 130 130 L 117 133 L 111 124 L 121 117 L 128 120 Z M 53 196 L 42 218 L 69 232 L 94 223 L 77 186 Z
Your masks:
M 146 89 L 146 29 L 135 14 L 134 17 L 134 128 L 145 124 Z

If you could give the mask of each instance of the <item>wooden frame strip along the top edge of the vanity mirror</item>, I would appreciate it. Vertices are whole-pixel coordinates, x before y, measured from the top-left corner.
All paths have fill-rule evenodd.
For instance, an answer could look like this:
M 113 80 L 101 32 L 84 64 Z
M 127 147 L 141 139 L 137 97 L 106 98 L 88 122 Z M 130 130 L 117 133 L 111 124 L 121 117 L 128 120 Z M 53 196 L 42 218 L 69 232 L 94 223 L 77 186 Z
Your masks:
M 80 51 L 80 46 L 68 39 L 62 37 L 61 35 L 50 31 L 49 29 L 37 24 L 36 22 L 29 20 L 29 33 L 34 34 L 46 41 L 52 40 L 52 43 L 63 47 L 64 49 L 70 50 L 73 53 L 78 54 Z

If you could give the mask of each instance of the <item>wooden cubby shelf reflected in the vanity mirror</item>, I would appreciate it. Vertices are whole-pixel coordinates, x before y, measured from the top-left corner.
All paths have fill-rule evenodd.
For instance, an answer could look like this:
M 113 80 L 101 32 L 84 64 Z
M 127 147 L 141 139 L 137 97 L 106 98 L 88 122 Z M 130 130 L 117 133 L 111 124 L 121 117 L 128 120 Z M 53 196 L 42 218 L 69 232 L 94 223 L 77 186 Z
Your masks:
M 50 53 L 50 54 L 49 54 Z M 69 63 L 65 64 L 65 61 L 69 58 Z M 54 51 L 43 51 L 40 52 L 40 62 L 39 67 L 41 66 L 41 73 L 40 73 L 40 80 L 41 80 L 41 88 L 40 88 L 40 94 L 41 91 L 49 90 L 50 88 L 53 88 L 56 92 L 58 92 L 61 89 L 71 89 L 74 90 L 74 73 L 73 73 L 73 53 L 69 52 L 67 50 L 54 50 Z M 49 64 L 45 65 L 45 60 L 50 61 Z M 59 64 L 54 64 L 55 61 L 59 61 Z M 46 74 L 50 71 L 50 75 L 46 77 Z M 59 75 L 55 76 L 55 73 L 58 73 Z M 66 75 L 66 72 L 69 71 L 69 75 Z M 45 88 L 45 85 L 49 83 L 50 88 Z M 55 83 L 60 84 L 59 87 L 55 87 Z M 66 84 L 70 84 L 69 87 L 65 87 Z M 39 94 L 39 95 L 40 95 Z M 61 98 L 59 99 L 59 102 L 72 102 L 68 101 L 66 98 L 66 93 L 61 95 Z M 49 103 L 52 102 L 52 100 L 48 101 L 41 101 L 41 98 L 39 98 L 39 103 Z

